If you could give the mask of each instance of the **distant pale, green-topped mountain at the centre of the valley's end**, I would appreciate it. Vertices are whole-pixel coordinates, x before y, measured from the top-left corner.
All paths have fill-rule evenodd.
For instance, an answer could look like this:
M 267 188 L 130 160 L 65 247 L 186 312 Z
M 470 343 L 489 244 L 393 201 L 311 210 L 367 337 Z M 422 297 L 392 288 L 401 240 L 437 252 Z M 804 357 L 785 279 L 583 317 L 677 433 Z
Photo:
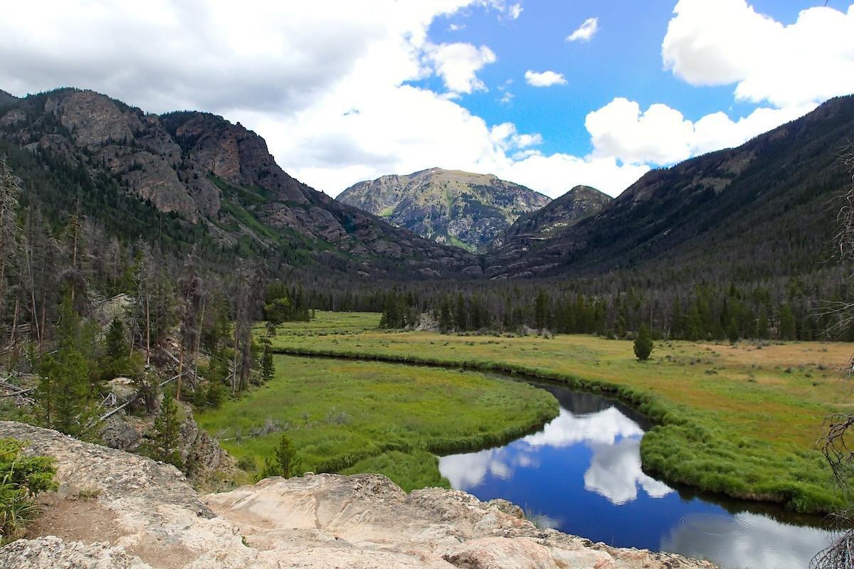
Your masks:
M 470 251 L 487 246 L 520 215 L 549 202 L 545 195 L 492 174 L 442 168 L 360 182 L 337 200 Z

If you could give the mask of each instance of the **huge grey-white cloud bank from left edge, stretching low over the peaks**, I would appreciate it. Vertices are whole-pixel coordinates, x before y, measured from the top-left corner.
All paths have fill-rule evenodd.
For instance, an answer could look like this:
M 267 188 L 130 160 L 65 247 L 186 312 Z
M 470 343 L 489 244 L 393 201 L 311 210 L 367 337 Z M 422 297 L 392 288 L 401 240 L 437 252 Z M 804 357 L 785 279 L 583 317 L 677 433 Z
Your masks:
M 73 85 L 146 111 L 219 113 L 264 136 L 285 171 L 332 195 L 434 165 L 491 172 L 553 197 L 579 183 L 617 195 L 650 165 L 737 144 L 805 108 L 759 109 L 736 121 L 714 113 L 691 123 L 664 105 L 641 113 L 636 103 L 611 102 L 588 118 L 589 156 L 545 154 L 538 133 L 488 125 L 453 100 L 486 89 L 477 73 L 496 59 L 488 46 L 428 39 L 440 15 L 485 7 L 509 18 L 514 6 L 14 3 L 0 20 L 0 88 L 23 95 Z M 585 26 L 592 37 L 595 24 Z M 447 92 L 411 84 L 433 74 Z M 496 85 L 496 99 L 511 102 L 511 84 Z

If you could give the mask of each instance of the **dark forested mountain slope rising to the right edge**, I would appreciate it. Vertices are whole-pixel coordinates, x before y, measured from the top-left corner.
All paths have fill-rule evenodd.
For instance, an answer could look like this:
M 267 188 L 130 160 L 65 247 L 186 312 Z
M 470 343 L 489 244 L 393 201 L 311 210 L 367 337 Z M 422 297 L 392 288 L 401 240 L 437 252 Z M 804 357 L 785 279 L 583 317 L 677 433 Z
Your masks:
M 832 99 L 738 148 L 650 171 L 594 216 L 529 247 L 500 247 L 488 274 L 634 270 L 702 282 L 818 270 L 833 240 L 833 198 L 851 183 L 839 163 L 851 133 L 854 96 Z

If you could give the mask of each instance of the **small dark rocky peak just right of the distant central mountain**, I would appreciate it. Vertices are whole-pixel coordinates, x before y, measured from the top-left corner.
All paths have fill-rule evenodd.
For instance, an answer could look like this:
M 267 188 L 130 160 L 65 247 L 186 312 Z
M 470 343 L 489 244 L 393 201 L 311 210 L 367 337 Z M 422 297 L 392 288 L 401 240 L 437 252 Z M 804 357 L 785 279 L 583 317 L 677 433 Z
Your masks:
M 525 213 L 494 241 L 494 248 L 527 247 L 600 212 L 613 198 L 590 186 L 576 186 L 540 209 Z

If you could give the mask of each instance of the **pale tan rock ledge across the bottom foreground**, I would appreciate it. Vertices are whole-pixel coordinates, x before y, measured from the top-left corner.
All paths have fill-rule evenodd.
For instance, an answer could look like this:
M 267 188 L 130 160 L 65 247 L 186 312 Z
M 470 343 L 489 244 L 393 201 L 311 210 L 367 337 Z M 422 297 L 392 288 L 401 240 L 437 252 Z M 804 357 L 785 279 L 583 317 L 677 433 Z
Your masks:
M 9 543 L 0 549 L 4 568 L 713 567 L 540 530 L 504 500 L 481 502 L 436 488 L 407 495 L 377 474 L 272 478 L 200 497 L 177 469 L 142 456 L 9 421 L 0 421 L 0 437 L 29 441 L 32 453 L 54 456 L 61 497 L 97 495 L 78 502 L 75 540 L 31 536 Z M 103 519 L 114 528 L 110 535 L 86 535 Z

